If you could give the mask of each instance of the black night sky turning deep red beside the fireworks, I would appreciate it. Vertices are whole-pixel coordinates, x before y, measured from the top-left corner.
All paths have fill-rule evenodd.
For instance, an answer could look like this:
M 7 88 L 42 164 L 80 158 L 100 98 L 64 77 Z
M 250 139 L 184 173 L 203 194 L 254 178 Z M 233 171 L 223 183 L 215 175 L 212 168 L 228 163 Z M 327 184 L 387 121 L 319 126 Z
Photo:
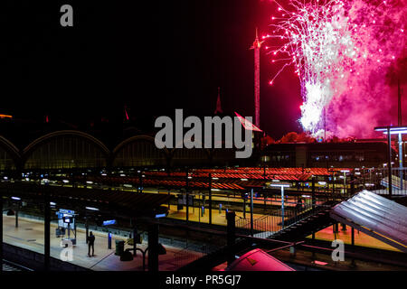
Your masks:
M 217 87 L 222 108 L 252 116 L 255 27 L 270 33 L 275 9 L 259 0 L 7 1 L 2 16 L 1 113 L 72 124 L 155 117 L 211 116 Z M 73 7 L 73 27 L 60 7 Z M 299 82 L 263 51 L 260 127 L 279 138 L 301 131 Z

